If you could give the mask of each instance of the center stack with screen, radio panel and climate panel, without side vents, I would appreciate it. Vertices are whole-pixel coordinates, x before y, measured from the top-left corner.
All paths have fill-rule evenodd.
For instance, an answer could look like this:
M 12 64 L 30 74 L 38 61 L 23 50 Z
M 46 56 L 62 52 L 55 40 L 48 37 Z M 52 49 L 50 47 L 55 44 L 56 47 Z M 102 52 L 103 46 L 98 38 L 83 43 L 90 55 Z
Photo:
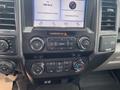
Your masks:
M 87 0 L 24 1 L 23 54 L 33 78 L 78 75 L 87 68 L 95 32 L 87 28 Z M 31 17 L 31 18 L 30 18 Z M 31 20 L 30 20 L 31 19 Z

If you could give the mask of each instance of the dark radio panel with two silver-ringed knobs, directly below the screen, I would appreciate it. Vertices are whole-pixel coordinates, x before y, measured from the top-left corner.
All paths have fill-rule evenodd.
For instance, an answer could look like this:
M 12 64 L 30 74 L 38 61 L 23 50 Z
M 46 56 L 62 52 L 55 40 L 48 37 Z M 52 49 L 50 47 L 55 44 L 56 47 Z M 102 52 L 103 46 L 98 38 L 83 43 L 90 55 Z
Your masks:
M 47 32 L 47 33 L 46 33 Z M 93 51 L 94 33 L 86 31 L 33 30 L 24 33 L 24 53 Z

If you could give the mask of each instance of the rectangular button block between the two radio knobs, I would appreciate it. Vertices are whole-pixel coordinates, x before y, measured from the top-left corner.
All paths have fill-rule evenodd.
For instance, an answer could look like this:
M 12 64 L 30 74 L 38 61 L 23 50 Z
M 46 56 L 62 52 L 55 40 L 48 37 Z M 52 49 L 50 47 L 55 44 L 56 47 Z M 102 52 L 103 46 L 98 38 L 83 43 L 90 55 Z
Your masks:
M 74 37 L 51 37 L 47 39 L 48 50 L 73 50 L 76 48 Z

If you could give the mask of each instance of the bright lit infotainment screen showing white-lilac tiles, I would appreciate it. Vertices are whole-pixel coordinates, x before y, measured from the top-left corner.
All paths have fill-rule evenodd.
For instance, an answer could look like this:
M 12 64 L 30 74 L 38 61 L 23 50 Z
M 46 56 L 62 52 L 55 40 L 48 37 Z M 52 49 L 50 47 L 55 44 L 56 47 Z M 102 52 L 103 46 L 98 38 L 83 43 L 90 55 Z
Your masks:
M 33 0 L 34 27 L 84 27 L 85 0 Z

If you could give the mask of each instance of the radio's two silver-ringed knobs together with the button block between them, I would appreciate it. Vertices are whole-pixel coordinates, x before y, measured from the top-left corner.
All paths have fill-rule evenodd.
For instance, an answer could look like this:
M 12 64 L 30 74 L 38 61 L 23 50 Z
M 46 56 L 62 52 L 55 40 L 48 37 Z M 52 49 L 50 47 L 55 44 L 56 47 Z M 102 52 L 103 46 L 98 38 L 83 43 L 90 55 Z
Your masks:
M 54 50 L 73 50 L 79 48 L 80 50 L 87 50 L 90 46 L 90 40 L 88 37 L 81 37 L 78 40 L 74 37 L 64 37 L 64 38 L 48 38 L 47 44 L 40 37 L 33 37 L 30 40 L 30 47 L 33 51 L 39 52 L 47 46 L 49 51 Z

